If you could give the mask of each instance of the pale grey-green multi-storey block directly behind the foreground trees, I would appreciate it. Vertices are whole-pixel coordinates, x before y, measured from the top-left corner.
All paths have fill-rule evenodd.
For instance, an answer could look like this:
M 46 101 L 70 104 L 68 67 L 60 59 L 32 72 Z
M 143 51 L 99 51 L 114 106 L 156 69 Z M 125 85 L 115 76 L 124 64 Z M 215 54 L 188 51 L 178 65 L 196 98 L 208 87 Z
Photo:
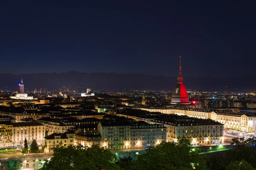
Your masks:
M 146 148 L 166 141 L 166 127 L 159 124 L 100 122 L 98 130 L 102 146 L 111 150 Z

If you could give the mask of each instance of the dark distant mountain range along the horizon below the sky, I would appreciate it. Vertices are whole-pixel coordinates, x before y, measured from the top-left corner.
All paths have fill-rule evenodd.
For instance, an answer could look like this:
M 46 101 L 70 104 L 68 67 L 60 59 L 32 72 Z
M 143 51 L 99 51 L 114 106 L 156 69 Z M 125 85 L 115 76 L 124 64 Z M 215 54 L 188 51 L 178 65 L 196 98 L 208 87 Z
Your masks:
M 177 77 L 151 76 L 143 74 L 119 73 L 36 73 L 36 74 L 0 74 L 0 89 L 15 90 L 23 78 L 25 90 L 58 90 L 62 87 L 84 90 L 85 88 L 111 91 L 125 90 L 173 90 Z M 183 77 L 187 90 L 197 91 L 234 91 L 254 92 L 256 76 L 254 77 Z

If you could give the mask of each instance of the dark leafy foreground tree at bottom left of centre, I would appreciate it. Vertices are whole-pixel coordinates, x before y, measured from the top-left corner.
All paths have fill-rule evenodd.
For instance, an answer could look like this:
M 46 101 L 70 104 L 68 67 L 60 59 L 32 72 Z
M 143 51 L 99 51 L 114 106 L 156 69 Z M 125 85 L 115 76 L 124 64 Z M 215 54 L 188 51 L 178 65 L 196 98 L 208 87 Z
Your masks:
M 120 170 L 115 162 L 116 156 L 103 147 L 59 145 L 41 170 Z

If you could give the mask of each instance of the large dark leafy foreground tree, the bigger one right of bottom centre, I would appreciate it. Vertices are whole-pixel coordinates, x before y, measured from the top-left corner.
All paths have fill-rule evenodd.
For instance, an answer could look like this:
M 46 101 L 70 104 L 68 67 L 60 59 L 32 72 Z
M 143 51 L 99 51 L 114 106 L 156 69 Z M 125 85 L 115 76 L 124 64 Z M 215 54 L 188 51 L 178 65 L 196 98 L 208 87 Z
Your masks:
M 177 142 L 162 142 L 149 147 L 146 153 L 138 155 L 132 170 L 207 170 L 205 159 L 191 142 L 179 139 Z

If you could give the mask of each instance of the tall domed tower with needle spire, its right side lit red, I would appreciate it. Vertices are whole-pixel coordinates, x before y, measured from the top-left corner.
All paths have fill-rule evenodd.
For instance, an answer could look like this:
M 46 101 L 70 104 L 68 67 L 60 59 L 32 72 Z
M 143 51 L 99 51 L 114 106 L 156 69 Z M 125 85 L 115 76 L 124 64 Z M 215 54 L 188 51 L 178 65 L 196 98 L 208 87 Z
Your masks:
M 172 92 L 172 104 L 190 104 L 188 93 L 185 86 L 183 85 L 183 78 L 181 76 L 181 56 L 180 56 L 180 69 L 179 77 L 177 78 L 178 83 Z

